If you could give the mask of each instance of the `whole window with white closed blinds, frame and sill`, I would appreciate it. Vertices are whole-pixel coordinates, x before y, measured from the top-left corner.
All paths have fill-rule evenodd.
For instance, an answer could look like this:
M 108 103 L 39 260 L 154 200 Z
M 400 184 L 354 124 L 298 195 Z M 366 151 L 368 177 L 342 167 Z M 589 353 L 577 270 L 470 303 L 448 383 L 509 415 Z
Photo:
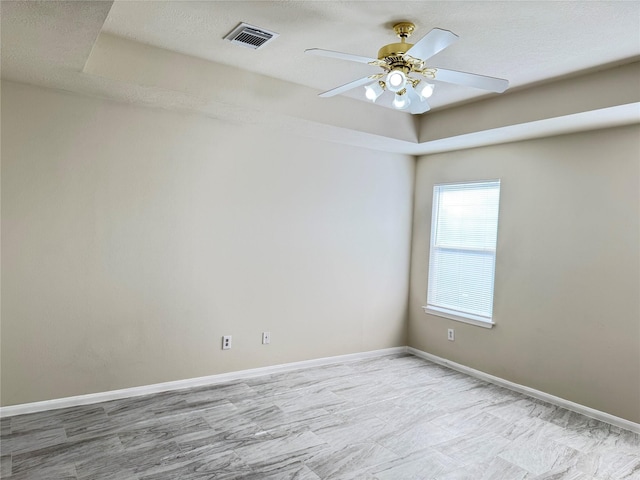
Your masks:
M 500 180 L 435 185 L 427 313 L 490 328 Z

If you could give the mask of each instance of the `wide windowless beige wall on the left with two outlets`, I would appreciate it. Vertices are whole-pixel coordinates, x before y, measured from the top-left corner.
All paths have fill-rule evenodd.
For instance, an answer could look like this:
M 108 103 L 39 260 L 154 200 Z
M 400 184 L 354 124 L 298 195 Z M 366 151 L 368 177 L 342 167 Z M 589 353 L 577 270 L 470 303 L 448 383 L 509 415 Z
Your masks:
M 3 83 L 2 405 L 405 345 L 414 163 Z

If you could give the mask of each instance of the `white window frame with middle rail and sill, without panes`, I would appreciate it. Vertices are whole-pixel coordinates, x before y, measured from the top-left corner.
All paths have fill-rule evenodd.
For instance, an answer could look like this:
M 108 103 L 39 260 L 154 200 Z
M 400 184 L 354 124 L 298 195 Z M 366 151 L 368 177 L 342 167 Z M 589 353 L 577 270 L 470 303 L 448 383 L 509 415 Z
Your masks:
M 465 185 L 481 185 L 483 187 L 486 186 L 490 186 L 490 185 L 497 185 L 498 187 L 498 204 L 497 204 L 497 215 L 496 215 L 496 244 L 493 248 L 486 248 L 486 247 L 465 247 L 465 246 L 448 246 L 448 247 L 437 247 L 436 244 L 436 235 L 437 235 L 437 228 L 439 225 L 439 215 L 440 215 L 440 195 L 441 192 L 438 193 L 438 187 L 447 187 L 447 186 L 465 186 Z M 479 327 L 484 327 L 484 328 L 492 328 L 495 325 L 495 321 L 494 321 L 494 313 L 493 313 L 493 302 L 495 301 L 495 264 L 496 264 L 496 250 L 497 250 L 497 244 L 498 244 L 498 225 L 499 225 L 499 220 L 500 220 L 500 194 L 501 194 L 501 182 L 500 179 L 491 179 L 491 180 L 472 180 L 472 181 L 466 181 L 466 182 L 449 182 L 449 183 L 437 183 L 434 184 L 433 186 L 433 203 L 432 203 L 432 208 L 431 208 L 431 234 L 430 234 L 430 240 L 429 240 L 429 265 L 428 265 L 428 272 L 427 272 L 427 304 L 424 305 L 422 308 L 425 311 L 425 313 L 430 314 L 430 315 L 435 315 L 438 317 L 443 317 L 443 318 L 447 318 L 450 320 L 455 320 L 457 322 L 463 322 L 463 323 L 467 323 L 467 324 L 471 324 L 471 325 L 476 325 Z M 493 257 L 493 272 L 492 272 L 492 276 L 493 276 L 493 284 L 491 287 L 492 290 L 492 294 L 491 294 L 491 302 L 492 302 L 492 313 L 491 313 L 491 317 L 487 317 L 487 316 L 483 316 L 483 315 L 477 315 L 471 312 L 465 312 L 465 311 L 460 311 L 460 310 L 452 310 L 452 309 L 448 309 L 446 307 L 443 306 L 439 306 L 439 305 L 434 305 L 434 304 L 430 304 L 429 303 L 429 292 L 430 292 L 430 288 L 432 288 L 432 282 L 431 280 L 431 269 L 432 269 L 432 259 L 433 259 L 433 251 L 434 248 L 438 248 L 440 250 L 449 250 L 449 251 L 467 251 L 467 252 L 474 252 L 474 253 L 478 253 L 480 255 L 486 255 L 489 254 Z

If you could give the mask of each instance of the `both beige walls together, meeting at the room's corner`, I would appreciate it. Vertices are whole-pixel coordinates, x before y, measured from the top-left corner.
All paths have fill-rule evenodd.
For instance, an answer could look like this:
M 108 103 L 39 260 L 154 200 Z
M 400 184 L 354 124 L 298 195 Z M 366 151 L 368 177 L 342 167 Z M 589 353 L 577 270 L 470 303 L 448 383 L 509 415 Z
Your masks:
M 640 422 L 638 138 L 423 157 L 414 199 L 407 156 L 3 82 L 1 403 L 405 345 L 409 292 L 411 346 Z M 489 178 L 491 330 L 420 308 L 433 184 Z

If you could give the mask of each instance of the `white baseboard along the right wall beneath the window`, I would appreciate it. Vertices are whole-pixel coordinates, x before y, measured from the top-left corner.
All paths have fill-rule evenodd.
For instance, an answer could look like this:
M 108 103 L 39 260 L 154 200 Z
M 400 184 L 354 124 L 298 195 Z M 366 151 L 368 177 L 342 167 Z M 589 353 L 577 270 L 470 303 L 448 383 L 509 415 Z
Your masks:
M 534 388 L 525 387 L 524 385 L 519 385 L 517 383 L 510 382 L 509 380 L 505 380 L 500 377 L 494 377 L 493 375 L 489 375 L 488 373 L 481 372 L 480 370 L 476 370 L 474 368 L 467 367 L 465 365 L 461 365 L 456 362 L 452 362 L 445 358 L 438 357 L 437 355 L 432 355 L 430 353 L 423 352 L 422 350 L 418 350 L 417 348 L 407 347 L 407 353 L 415 355 L 416 357 L 424 358 L 425 360 L 429 360 L 433 363 L 437 363 L 438 365 L 449 367 L 453 370 L 457 370 L 458 372 L 467 374 L 471 377 L 479 378 L 480 380 L 485 380 L 489 383 L 493 383 L 500 387 L 508 388 L 509 390 L 523 393 L 530 397 L 537 398 L 538 400 L 551 403 L 552 405 L 566 408 L 567 410 L 571 410 L 572 412 L 579 413 L 586 417 L 594 418 L 596 420 L 600 420 L 602 422 L 609 423 L 611 425 L 615 425 L 620 428 L 624 428 L 625 430 L 630 430 L 634 433 L 640 433 L 640 423 L 635 423 L 630 420 L 625 420 L 624 418 L 616 417 L 615 415 L 610 415 L 608 413 L 601 412 L 600 410 L 595 410 L 590 407 L 585 407 L 584 405 L 580 405 L 579 403 L 571 402 L 569 400 L 565 400 L 564 398 L 556 397 L 554 395 L 541 392 L 540 390 L 536 390 Z

